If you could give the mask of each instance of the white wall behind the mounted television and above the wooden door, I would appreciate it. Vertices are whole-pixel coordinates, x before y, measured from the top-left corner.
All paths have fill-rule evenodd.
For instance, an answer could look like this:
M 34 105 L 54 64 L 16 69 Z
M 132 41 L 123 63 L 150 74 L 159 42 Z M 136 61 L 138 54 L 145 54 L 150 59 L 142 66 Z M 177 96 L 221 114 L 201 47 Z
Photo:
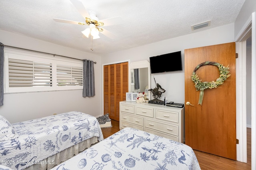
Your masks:
M 130 59 L 130 62 L 141 60 L 149 61 L 149 57 L 152 56 L 181 51 L 183 71 L 151 74 L 151 88 L 155 87 L 155 78 L 156 82 L 166 90 L 166 92 L 162 94 L 161 100 L 166 97 L 168 101 L 184 103 L 184 49 L 229 42 L 234 42 L 234 23 L 111 53 L 102 57 L 102 63 L 112 63 L 127 59 Z

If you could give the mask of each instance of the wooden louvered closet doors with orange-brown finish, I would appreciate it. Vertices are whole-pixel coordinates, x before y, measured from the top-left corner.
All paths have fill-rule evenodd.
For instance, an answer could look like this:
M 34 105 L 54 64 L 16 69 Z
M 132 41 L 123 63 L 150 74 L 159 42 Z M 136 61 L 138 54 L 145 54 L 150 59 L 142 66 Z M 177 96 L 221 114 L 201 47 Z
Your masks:
M 104 114 L 119 121 L 119 102 L 128 92 L 128 62 L 104 66 Z

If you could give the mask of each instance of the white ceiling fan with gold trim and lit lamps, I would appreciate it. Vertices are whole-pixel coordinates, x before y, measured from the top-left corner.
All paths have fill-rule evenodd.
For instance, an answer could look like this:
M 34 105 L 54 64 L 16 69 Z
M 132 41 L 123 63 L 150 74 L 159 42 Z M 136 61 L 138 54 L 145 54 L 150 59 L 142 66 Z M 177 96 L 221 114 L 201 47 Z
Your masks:
M 108 18 L 104 20 L 99 20 L 97 15 L 94 12 L 87 12 L 83 3 L 79 0 L 70 0 L 70 2 L 74 5 L 74 7 L 78 10 L 78 12 L 85 18 L 84 22 L 81 21 L 71 21 L 71 20 L 63 20 L 58 18 L 53 18 L 54 21 L 62 22 L 62 23 L 72 23 L 78 25 L 89 25 L 84 31 L 81 31 L 83 35 L 87 38 L 91 35 L 91 50 L 92 49 L 92 39 L 100 38 L 99 33 L 106 35 L 107 37 L 114 39 L 116 35 L 107 31 L 103 26 L 122 24 L 123 20 L 121 17 Z

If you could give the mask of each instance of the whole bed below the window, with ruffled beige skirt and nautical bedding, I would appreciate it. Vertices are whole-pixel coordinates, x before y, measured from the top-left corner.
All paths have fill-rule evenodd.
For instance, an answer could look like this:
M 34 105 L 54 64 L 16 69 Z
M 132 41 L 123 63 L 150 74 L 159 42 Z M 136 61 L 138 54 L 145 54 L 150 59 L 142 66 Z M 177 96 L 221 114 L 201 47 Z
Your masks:
M 103 140 L 96 117 L 78 111 L 14 124 L 1 120 L 0 164 L 16 170 L 50 169 Z

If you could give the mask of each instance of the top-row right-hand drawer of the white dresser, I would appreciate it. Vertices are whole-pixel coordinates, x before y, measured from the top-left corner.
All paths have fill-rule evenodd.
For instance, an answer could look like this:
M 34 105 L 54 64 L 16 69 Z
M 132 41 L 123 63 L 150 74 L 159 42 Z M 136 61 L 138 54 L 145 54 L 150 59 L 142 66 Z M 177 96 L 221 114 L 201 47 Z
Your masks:
M 179 113 L 175 111 L 156 109 L 156 119 L 179 123 Z

